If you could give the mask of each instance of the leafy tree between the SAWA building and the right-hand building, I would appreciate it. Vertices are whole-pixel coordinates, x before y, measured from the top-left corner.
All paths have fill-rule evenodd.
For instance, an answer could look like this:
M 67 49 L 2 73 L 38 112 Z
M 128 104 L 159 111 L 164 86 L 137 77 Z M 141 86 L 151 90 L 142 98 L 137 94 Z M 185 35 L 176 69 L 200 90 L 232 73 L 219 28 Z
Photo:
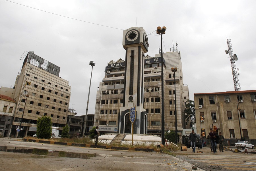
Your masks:
M 186 121 L 189 123 L 189 127 L 193 128 L 195 125 L 195 102 L 193 100 L 187 100 L 185 107 Z

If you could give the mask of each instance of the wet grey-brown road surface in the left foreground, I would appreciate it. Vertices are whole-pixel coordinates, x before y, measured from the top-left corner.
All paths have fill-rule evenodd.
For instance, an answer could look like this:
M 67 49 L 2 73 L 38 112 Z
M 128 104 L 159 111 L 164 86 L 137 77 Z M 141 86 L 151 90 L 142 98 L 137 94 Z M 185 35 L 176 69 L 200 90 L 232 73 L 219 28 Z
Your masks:
M 24 142 L 0 138 L 1 170 L 192 170 L 192 164 L 174 156 L 157 152 L 120 151 Z M 48 155 L 7 152 L 8 149 L 46 149 Z M 29 151 L 29 150 L 28 150 Z M 56 153 L 56 151 L 61 151 Z M 73 157 L 62 157 L 67 152 Z M 35 153 L 35 150 L 34 150 Z M 82 159 L 85 157 L 84 159 Z M 201 169 L 197 169 L 201 171 Z

